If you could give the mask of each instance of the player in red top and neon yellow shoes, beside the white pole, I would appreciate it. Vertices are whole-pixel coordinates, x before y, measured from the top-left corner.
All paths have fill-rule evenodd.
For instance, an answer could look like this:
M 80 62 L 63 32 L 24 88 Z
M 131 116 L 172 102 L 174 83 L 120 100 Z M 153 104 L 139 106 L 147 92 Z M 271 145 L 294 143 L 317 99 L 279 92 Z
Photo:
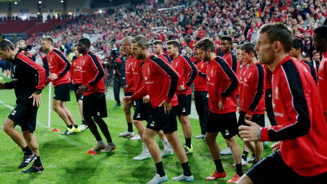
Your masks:
M 54 85 L 52 109 L 67 125 L 66 131 L 62 135 L 79 133 L 81 130 L 78 128 L 71 112 L 66 107 L 66 102 L 70 101 L 70 63 L 60 50 L 53 48 L 52 37 L 47 36 L 42 38 L 42 48 L 48 53 L 47 61 L 50 70 L 50 75 L 46 83 L 52 81 Z

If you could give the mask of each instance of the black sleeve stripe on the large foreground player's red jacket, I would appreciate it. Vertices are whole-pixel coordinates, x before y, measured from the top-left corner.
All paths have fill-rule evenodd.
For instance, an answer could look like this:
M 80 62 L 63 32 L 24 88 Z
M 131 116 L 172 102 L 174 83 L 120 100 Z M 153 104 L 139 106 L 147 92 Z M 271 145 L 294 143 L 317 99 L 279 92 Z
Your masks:
M 292 96 L 292 107 L 297 113 L 297 120 L 279 130 L 269 129 L 268 135 L 271 141 L 294 139 L 307 134 L 310 130 L 308 106 L 299 71 L 293 62 L 292 60 L 286 61 L 282 64 L 282 70 Z

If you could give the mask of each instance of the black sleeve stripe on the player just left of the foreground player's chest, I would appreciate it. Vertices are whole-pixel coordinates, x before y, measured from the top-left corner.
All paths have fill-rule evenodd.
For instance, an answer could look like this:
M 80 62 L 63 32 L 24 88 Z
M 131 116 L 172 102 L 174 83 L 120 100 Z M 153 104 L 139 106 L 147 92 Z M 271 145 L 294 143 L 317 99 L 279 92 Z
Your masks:
M 258 84 L 257 84 L 257 93 L 255 94 L 255 97 L 253 98 L 252 104 L 250 105 L 249 109 L 250 111 L 255 111 L 257 108 L 260 100 L 264 96 L 264 67 L 262 67 L 261 64 L 256 64 L 257 70 L 258 70 Z

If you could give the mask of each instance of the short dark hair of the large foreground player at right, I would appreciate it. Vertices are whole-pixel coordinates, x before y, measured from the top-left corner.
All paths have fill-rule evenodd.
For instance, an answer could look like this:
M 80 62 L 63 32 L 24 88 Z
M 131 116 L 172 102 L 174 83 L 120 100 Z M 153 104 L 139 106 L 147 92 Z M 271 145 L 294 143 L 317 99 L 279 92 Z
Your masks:
M 267 33 L 270 43 L 279 41 L 283 46 L 284 52 L 289 52 L 293 45 L 291 30 L 283 23 L 269 23 L 260 28 L 260 33 Z

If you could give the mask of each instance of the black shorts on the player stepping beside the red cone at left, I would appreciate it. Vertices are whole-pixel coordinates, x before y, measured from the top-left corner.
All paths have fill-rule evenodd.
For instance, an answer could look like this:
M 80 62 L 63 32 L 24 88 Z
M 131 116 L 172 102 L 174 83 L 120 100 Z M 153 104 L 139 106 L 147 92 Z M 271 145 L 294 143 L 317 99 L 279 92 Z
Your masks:
M 83 116 L 84 117 L 107 117 L 107 104 L 104 93 L 94 93 L 84 96 L 83 99 Z

